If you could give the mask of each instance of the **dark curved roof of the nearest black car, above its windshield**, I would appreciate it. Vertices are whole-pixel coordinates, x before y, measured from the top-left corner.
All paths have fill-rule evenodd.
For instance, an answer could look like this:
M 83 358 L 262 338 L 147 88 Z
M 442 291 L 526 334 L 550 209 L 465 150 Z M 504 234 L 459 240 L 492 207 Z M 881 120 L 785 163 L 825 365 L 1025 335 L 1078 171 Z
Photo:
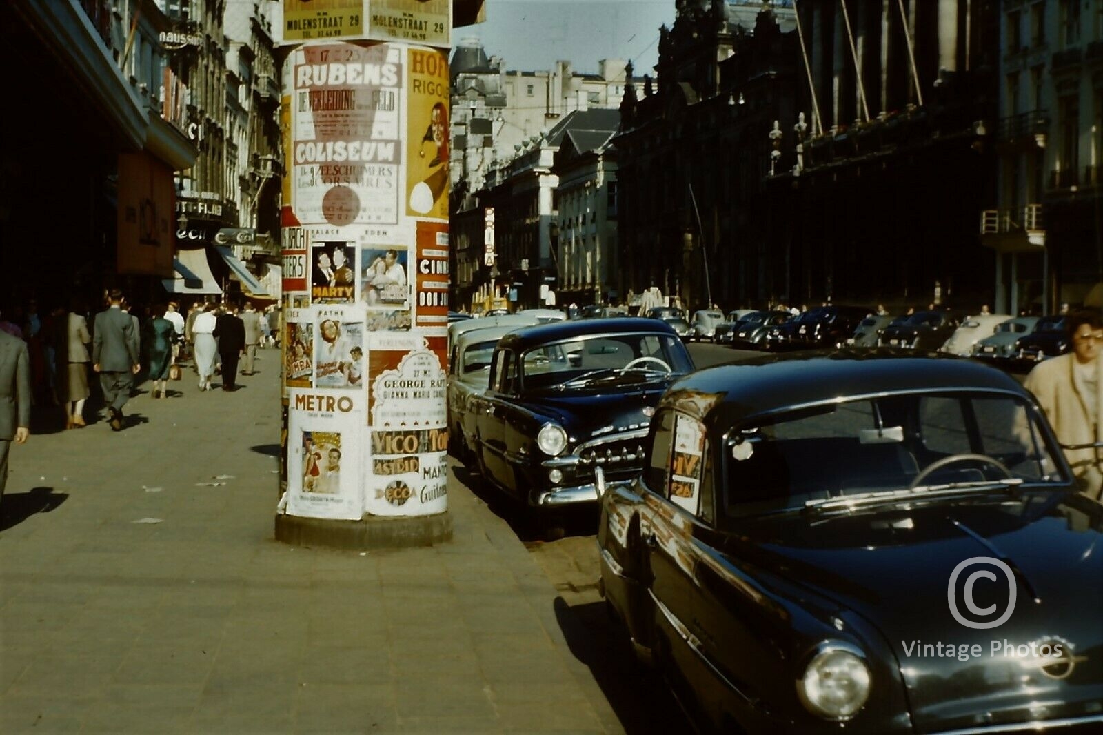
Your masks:
M 706 368 L 678 380 L 660 405 L 727 430 L 749 416 L 840 396 L 942 388 L 1028 395 L 1014 377 L 989 365 L 880 348 L 771 354 Z

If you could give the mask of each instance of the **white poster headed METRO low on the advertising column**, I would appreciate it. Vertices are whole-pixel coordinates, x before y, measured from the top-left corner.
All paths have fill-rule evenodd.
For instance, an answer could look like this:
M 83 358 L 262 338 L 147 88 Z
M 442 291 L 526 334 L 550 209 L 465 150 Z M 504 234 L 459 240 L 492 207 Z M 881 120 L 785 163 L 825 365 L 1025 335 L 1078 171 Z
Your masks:
M 364 394 L 291 388 L 288 513 L 356 521 L 363 515 Z

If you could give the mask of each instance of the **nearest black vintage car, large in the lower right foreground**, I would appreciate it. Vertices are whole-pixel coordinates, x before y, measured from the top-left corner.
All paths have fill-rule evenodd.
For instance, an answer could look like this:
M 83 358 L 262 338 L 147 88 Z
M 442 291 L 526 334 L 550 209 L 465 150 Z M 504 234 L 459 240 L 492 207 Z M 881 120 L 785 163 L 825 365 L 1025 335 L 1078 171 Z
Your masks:
M 1103 732 L 1103 505 L 1014 379 L 913 354 L 694 373 L 603 491 L 601 589 L 700 729 Z

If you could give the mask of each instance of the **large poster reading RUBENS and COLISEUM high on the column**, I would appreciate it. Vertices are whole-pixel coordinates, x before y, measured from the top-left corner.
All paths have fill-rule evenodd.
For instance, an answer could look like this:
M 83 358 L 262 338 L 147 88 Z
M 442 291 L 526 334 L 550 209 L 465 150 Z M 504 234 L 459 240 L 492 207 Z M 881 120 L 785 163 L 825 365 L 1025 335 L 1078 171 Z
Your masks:
M 297 222 L 398 223 L 404 54 L 388 43 L 343 42 L 292 52 L 289 175 Z

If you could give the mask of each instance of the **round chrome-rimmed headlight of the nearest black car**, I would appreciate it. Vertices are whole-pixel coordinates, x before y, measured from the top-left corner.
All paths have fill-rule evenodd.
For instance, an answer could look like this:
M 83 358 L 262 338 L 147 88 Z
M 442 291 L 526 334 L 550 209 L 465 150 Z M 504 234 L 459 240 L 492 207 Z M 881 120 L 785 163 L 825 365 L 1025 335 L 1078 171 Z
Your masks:
M 826 720 L 847 720 L 869 697 L 869 669 L 849 648 L 824 647 L 796 682 L 801 703 L 812 714 Z

